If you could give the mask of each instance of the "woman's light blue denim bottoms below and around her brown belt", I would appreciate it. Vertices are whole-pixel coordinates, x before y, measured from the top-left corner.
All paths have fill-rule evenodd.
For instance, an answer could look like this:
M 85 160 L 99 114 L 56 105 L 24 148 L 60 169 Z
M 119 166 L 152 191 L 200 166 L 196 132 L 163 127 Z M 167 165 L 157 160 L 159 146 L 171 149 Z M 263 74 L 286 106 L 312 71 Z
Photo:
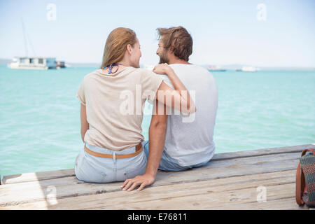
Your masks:
M 125 181 L 146 172 L 147 158 L 144 151 L 132 158 L 116 158 L 116 155 L 135 153 L 135 146 L 123 151 L 112 151 L 99 146 L 90 146 L 86 142 L 85 146 L 96 153 L 111 154 L 113 158 L 99 158 L 90 155 L 83 147 L 76 158 L 74 167 L 76 178 L 79 181 L 94 183 Z

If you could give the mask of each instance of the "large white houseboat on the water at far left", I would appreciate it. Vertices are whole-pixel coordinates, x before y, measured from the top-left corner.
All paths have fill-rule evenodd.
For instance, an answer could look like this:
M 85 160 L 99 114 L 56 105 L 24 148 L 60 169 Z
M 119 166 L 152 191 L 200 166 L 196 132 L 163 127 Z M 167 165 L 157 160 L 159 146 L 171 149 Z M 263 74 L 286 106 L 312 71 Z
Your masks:
M 55 57 L 14 57 L 10 69 L 57 69 Z

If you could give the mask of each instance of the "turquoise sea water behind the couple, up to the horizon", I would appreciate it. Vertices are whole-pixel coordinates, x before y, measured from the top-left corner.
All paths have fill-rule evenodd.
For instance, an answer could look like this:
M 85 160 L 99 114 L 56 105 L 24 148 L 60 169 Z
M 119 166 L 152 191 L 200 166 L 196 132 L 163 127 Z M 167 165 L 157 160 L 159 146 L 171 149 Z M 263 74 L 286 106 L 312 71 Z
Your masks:
M 73 168 L 80 139 L 78 86 L 95 68 L 0 66 L 0 174 Z M 315 141 L 315 71 L 212 73 L 219 93 L 216 153 Z M 148 139 L 151 116 L 144 116 Z

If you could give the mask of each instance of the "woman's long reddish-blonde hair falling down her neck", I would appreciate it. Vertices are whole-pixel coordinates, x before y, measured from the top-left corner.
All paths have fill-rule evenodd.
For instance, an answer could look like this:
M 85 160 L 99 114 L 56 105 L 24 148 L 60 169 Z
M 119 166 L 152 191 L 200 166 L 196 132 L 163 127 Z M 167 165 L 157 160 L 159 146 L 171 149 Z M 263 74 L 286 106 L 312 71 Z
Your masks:
M 132 29 L 124 27 L 113 29 L 106 40 L 101 69 L 120 62 L 125 55 L 127 45 L 133 46 L 136 42 L 137 36 Z

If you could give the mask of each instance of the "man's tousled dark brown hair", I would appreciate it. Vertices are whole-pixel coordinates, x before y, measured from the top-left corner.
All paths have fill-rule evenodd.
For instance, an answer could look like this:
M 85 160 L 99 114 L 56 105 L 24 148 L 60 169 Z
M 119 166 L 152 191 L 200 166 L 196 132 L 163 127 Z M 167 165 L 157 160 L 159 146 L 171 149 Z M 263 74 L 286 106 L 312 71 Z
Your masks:
M 193 53 L 193 38 L 184 27 L 158 28 L 158 39 L 165 50 L 171 50 L 176 57 L 186 62 Z

